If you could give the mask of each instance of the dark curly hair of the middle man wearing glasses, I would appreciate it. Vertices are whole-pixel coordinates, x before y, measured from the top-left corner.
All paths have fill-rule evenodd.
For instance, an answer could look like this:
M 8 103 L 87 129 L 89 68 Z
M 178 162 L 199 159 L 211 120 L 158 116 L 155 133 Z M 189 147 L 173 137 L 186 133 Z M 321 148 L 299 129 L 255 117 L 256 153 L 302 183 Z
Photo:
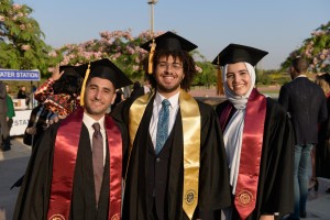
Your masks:
M 150 80 L 153 88 L 156 88 L 157 82 L 154 77 L 154 73 L 156 70 L 157 64 L 160 63 L 160 58 L 163 56 L 173 56 L 174 59 L 179 59 L 183 62 L 185 78 L 180 82 L 180 88 L 189 91 L 190 84 L 195 78 L 197 72 L 193 56 L 185 51 L 155 51 L 153 57 L 153 74 L 147 73 L 148 57 L 146 56 L 144 59 L 145 78 Z

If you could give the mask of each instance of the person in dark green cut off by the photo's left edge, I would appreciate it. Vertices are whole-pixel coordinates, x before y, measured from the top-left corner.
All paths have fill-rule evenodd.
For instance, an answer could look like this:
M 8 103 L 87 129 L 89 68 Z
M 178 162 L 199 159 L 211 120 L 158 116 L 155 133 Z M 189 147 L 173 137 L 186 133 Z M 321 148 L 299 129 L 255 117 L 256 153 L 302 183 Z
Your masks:
M 10 146 L 4 143 L 4 140 L 9 136 L 8 123 L 7 123 L 7 91 L 6 85 L 0 80 L 0 151 L 8 151 Z

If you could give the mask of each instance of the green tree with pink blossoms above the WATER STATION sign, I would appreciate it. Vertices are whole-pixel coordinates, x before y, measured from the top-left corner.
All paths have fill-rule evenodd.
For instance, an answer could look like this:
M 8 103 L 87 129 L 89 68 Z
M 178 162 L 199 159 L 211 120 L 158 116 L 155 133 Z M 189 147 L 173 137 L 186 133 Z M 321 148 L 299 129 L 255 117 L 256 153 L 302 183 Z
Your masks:
M 12 69 L 40 69 L 46 73 L 52 50 L 43 41 L 44 33 L 31 18 L 33 10 L 25 4 L 1 0 L 0 66 Z

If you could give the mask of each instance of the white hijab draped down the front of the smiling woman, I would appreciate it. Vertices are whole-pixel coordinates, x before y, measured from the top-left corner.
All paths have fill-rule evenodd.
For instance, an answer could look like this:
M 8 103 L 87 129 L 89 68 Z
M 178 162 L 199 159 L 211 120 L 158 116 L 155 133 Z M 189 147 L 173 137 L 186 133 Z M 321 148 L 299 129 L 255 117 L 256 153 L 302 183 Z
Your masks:
M 232 90 L 229 89 L 226 82 L 228 65 L 223 66 L 222 68 L 222 78 L 224 81 L 226 97 L 237 109 L 235 113 L 228 122 L 228 125 L 223 132 L 224 147 L 226 147 L 227 160 L 230 168 L 230 185 L 232 186 L 233 195 L 235 194 L 239 168 L 240 168 L 245 108 L 246 108 L 248 99 L 255 85 L 255 70 L 253 66 L 249 63 L 244 63 L 244 64 L 251 77 L 251 87 L 249 88 L 248 92 L 243 96 L 235 95 Z

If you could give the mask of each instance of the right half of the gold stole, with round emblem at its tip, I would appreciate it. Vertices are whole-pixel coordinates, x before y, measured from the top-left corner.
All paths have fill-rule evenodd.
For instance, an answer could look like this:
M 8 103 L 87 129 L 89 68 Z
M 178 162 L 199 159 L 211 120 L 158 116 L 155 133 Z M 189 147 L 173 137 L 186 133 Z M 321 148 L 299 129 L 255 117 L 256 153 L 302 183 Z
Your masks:
M 184 130 L 184 199 L 183 208 L 193 219 L 198 204 L 200 167 L 200 112 L 197 101 L 186 91 L 179 96 Z

